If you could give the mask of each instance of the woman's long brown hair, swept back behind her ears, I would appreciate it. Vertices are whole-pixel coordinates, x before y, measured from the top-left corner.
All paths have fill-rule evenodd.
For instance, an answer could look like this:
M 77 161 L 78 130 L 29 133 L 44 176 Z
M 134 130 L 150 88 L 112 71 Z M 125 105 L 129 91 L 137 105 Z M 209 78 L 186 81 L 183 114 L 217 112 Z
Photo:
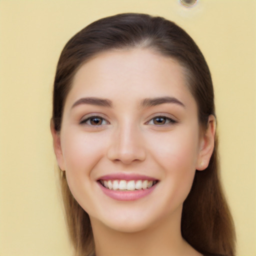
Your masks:
M 77 34 L 64 46 L 57 64 L 52 121 L 56 131 L 72 79 L 79 67 L 100 52 L 122 48 L 151 48 L 169 56 L 185 70 L 187 86 L 198 108 L 202 128 L 210 114 L 215 116 L 214 94 L 210 72 L 193 39 L 175 23 L 147 14 L 124 13 L 99 19 Z M 224 198 L 217 156 L 217 137 L 208 167 L 196 171 L 190 193 L 183 203 L 181 233 L 184 239 L 204 255 L 235 254 L 235 233 L 231 214 Z M 65 177 L 60 174 L 66 220 L 76 254 L 88 255 L 94 250 L 88 214 L 73 198 Z

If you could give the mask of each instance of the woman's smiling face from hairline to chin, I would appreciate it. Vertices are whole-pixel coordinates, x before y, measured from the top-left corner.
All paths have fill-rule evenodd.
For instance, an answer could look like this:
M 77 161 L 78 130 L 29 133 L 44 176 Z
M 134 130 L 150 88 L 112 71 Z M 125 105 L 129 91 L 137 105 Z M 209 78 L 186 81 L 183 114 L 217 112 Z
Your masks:
M 180 218 L 204 147 L 182 71 L 132 49 L 100 53 L 75 74 L 55 152 L 92 222 L 138 231 Z

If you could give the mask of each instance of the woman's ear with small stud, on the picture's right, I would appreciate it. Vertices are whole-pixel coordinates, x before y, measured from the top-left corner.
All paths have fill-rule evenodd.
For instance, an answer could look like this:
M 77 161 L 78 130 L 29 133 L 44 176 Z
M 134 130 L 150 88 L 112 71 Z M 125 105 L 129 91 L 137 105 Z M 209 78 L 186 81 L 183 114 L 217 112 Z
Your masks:
M 214 136 L 216 129 L 216 119 L 214 115 L 209 115 L 207 128 L 200 138 L 200 148 L 196 163 L 197 170 L 204 170 L 209 164 L 209 160 L 214 148 Z

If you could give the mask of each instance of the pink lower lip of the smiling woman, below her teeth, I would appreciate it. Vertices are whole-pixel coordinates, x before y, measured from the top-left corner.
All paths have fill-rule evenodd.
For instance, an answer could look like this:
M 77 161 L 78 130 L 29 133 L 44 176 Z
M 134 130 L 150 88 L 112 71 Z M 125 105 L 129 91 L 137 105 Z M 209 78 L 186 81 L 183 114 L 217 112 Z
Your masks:
M 115 200 L 119 200 L 119 201 L 138 200 L 138 199 L 148 195 L 149 193 L 151 193 L 155 188 L 155 185 L 153 185 L 146 189 L 139 189 L 139 190 L 132 190 L 132 191 L 118 191 L 118 190 L 112 190 L 112 189 L 105 188 L 99 182 L 98 182 L 98 184 L 104 194 L 106 194 L 107 196 L 109 196 Z

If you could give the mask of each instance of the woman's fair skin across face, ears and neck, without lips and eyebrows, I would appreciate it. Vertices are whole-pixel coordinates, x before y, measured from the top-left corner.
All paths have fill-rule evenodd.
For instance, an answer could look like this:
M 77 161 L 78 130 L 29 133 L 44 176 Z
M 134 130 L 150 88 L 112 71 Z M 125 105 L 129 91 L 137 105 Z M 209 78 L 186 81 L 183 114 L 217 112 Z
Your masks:
M 175 60 L 140 48 L 100 53 L 75 74 L 60 133 L 53 125 L 51 132 L 58 165 L 89 214 L 97 256 L 201 255 L 183 240 L 180 219 L 195 169 L 208 165 L 215 121 L 209 116 L 201 132 L 185 82 Z M 182 104 L 141 105 L 145 98 L 167 96 Z M 77 102 L 83 97 L 107 99 L 111 106 Z M 117 201 L 97 182 L 116 172 L 158 182 L 145 197 Z

